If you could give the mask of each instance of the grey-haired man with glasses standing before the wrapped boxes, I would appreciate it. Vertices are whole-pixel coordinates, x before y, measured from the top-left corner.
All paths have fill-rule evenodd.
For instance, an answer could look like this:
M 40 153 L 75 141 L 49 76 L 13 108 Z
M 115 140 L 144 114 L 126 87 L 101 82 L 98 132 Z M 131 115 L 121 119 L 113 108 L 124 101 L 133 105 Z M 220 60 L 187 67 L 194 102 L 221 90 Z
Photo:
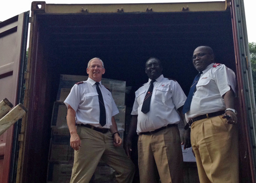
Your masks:
M 119 111 L 110 91 L 101 84 L 104 73 L 102 60 L 91 59 L 88 80 L 76 83 L 64 101 L 70 145 L 75 150 L 72 183 L 88 183 L 100 159 L 117 172 L 117 182 L 133 181 L 135 166 L 120 147 L 122 139 L 114 118 Z

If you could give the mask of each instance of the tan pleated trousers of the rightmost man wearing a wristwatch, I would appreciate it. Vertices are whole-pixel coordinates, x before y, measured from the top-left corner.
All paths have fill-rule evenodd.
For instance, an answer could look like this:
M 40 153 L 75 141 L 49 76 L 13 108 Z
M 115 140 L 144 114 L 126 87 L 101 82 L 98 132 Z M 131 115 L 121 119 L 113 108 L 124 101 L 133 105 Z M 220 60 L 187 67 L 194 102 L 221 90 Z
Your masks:
M 191 145 L 202 183 L 238 183 L 237 125 L 217 116 L 191 125 Z

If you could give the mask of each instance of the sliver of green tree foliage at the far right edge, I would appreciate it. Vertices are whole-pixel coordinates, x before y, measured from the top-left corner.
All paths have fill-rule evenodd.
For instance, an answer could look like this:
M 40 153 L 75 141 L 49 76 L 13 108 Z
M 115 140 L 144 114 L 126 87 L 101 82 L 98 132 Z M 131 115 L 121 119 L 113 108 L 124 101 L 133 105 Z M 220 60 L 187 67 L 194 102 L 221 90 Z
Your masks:
M 251 72 L 253 79 L 253 89 L 254 89 L 254 97 L 256 101 L 256 43 L 249 42 L 249 51 L 250 51 L 250 59 L 251 59 Z

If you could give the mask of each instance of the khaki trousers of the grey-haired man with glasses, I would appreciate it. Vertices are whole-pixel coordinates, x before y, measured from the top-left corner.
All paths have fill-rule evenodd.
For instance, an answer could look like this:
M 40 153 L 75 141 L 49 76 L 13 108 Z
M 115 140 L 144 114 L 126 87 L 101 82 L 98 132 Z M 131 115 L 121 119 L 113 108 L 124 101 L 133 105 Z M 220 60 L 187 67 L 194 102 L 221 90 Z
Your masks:
M 88 183 L 100 158 L 116 172 L 116 181 L 132 183 L 135 166 L 124 152 L 123 147 L 115 147 L 112 134 L 101 133 L 90 128 L 77 126 L 81 147 L 75 151 L 71 183 Z

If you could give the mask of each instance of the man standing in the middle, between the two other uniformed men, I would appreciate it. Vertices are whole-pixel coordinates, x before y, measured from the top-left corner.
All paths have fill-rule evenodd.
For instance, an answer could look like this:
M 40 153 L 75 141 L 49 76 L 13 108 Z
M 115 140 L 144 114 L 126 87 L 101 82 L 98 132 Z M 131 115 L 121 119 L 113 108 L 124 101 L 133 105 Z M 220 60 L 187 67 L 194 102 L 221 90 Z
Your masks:
M 183 182 L 183 157 L 177 124 L 184 115 L 181 117 L 177 111 L 182 113 L 186 96 L 178 82 L 163 77 L 162 70 L 159 59 L 146 61 L 145 73 L 149 79 L 135 93 L 125 143 L 129 156 L 137 129 L 140 183 L 157 183 L 159 179 L 162 183 Z

